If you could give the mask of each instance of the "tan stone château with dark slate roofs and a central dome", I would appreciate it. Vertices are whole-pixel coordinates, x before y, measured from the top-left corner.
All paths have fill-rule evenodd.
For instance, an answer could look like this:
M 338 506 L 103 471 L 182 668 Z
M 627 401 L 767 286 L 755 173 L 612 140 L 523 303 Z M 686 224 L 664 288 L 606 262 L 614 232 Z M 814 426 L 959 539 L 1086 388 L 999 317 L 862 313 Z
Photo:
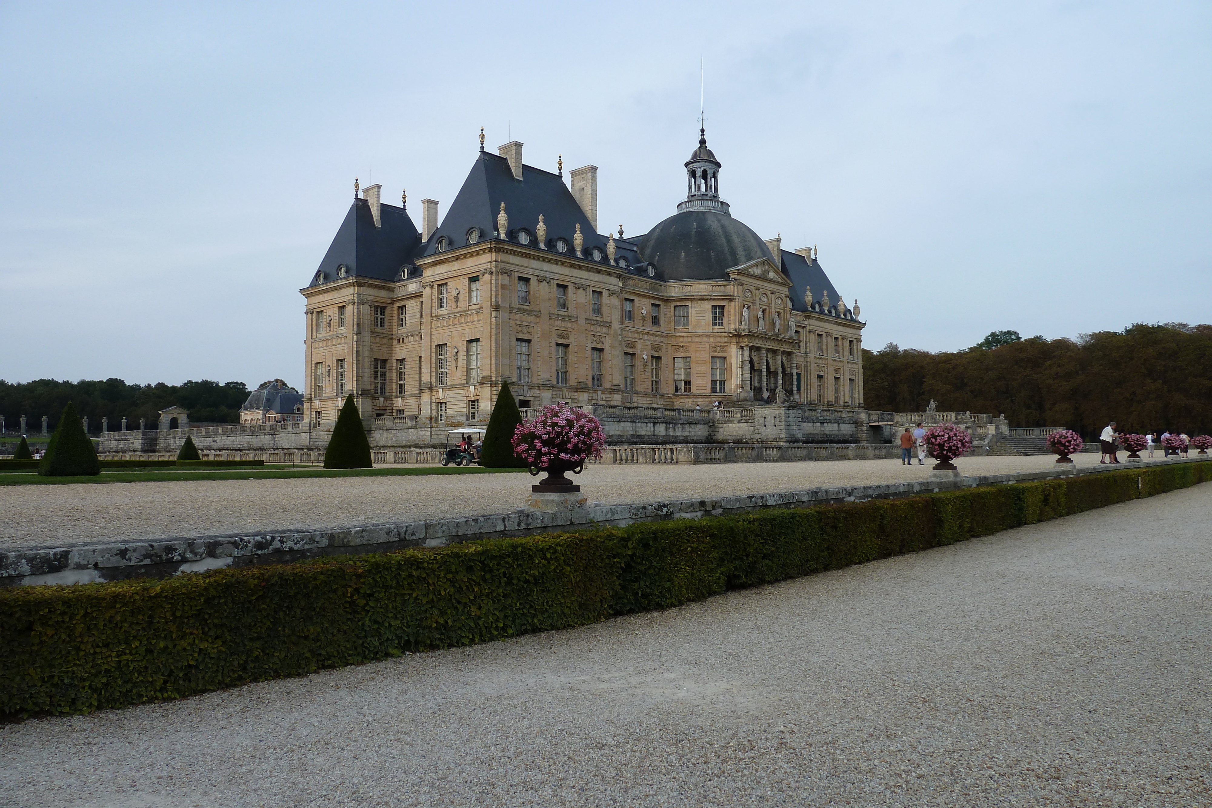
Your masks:
M 522 144 L 480 153 L 450 211 L 421 229 L 354 184 L 310 283 L 305 418 L 486 418 L 508 380 L 520 407 L 720 401 L 863 406 L 858 303 L 814 250 L 787 251 L 732 217 L 699 131 L 686 199 L 642 235 L 600 233 L 598 167 L 522 164 Z M 749 405 L 751 406 L 751 403 Z

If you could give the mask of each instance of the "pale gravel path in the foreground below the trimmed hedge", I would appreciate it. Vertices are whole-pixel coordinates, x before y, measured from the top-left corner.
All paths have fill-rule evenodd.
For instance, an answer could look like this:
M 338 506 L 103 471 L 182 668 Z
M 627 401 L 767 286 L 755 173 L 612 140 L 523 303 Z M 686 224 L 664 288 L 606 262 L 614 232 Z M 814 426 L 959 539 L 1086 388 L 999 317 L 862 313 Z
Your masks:
M 1210 493 L 0 726 L 0 804 L 1208 806 Z

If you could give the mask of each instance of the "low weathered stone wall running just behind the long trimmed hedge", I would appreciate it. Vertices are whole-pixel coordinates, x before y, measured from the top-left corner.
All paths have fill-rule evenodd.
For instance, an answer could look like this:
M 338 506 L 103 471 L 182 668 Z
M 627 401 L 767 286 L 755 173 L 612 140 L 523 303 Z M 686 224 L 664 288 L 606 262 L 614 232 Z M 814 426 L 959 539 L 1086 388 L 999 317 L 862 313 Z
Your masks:
M 1206 459 L 1206 458 L 1204 458 Z M 1199 463 L 1200 458 L 1157 460 Z M 1127 466 L 1131 469 L 1132 466 Z M 162 541 L 98 541 L 70 548 L 34 548 L 0 552 L 0 586 L 84 584 L 126 578 L 166 578 L 185 572 L 263 563 L 287 563 L 328 555 L 385 552 L 405 548 L 441 548 L 457 541 L 526 535 L 590 526 L 625 526 L 668 518 L 741 514 L 761 508 L 804 508 L 867 499 L 894 499 L 938 491 L 993 486 L 1068 475 L 1124 471 L 1124 466 L 1048 469 L 1045 471 L 921 480 L 879 486 L 810 488 L 770 494 L 681 499 L 635 505 L 601 505 L 545 512 L 519 508 L 513 514 L 465 516 L 423 522 L 365 525 L 341 529 L 245 533 Z M 519 487 L 519 500 L 524 493 Z

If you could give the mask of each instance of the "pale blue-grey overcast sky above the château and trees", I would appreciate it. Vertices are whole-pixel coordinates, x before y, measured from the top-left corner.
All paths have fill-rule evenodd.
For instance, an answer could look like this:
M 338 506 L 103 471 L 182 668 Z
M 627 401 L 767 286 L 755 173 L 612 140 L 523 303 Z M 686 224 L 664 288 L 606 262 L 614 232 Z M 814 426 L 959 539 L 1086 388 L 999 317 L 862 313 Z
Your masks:
M 1208 322 L 1212 4 L 0 2 L 0 378 L 302 382 L 354 177 L 487 147 L 818 245 L 868 348 Z M 567 176 L 567 172 L 566 172 Z

